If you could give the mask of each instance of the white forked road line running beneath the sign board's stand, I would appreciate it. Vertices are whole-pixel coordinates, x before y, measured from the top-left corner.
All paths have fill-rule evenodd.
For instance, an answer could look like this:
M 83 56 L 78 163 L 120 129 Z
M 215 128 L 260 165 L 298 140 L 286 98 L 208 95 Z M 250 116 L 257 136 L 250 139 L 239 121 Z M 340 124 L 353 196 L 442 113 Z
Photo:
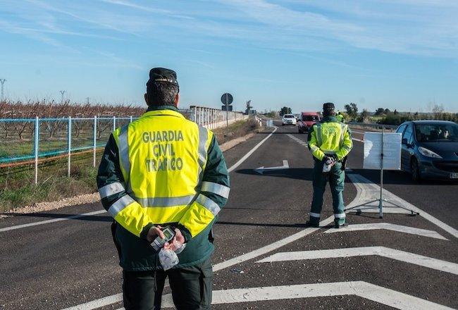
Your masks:
M 347 208 L 351 208 L 352 206 L 357 206 L 359 204 L 363 204 L 364 202 L 369 202 L 373 199 L 377 199 L 378 197 L 380 197 L 380 187 L 376 185 L 375 183 L 371 182 L 370 180 L 364 178 L 362 175 L 359 175 L 357 173 L 347 173 L 347 176 L 352 181 L 354 186 L 357 187 L 357 192 L 358 192 L 357 194 L 358 199 L 354 199 L 354 201 L 351 204 L 349 204 Z M 438 220 L 434 216 L 431 216 L 431 214 L 426 213 L 425 211 L 414 206 L 413 204 L 406 202 L 404 199 L 397 197 L 395 194 L 392 194 L 392 192 L 389 192 L 388 190 L 383 189 L 383 197 L 387 199 L 388 202 L 394 202 L 395 204 L 404 206 L 407 209 L 411 209 L 416 212 L 419 212 L 421 217 L 430 221 L 434 225 L 437 225 L 438 227 L 442 228 L 447 233 L 450 233 L 450 235 L 458 238 L 458 230 Z M 386 212 L 385 210 L 386 209 L 383 208 L 383 212 Z M 397 210 L 401 211 L 402 209 L 397 209 Z M 353 209 L 353 211 L 357 211 L 357 209 Z M 367 210 L 364 210 L 364 211 L 367 211 Z

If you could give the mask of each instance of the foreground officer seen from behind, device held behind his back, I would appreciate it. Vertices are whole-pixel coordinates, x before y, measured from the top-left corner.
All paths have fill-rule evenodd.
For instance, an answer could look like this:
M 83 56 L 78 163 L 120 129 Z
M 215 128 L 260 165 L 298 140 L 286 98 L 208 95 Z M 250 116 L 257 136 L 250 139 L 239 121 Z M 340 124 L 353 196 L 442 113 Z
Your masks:
M 149 72 L 147 112 L 116 129 L 97 175 L 101 202 L 113 216 L 113 240 L 123 268 L 125 309 L 161 309 L 169 278 L 178 310 L 209 309 L 213 272 L 211 227 L 229 194 L 221 149 L 210 130 L 178 111 L 176 73 Z M 179 263 L 164 271 L 150 243 L 175 230 L 164 247 Z

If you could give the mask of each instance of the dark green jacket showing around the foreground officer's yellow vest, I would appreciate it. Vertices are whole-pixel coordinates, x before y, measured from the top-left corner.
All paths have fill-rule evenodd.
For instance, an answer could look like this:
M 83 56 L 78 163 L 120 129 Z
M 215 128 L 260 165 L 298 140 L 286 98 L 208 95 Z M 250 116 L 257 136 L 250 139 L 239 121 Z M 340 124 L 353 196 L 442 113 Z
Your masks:
M 178 111 L 175 106 L 150 107 L 148 111 L 160 109 Z M 219 148 L 218 142 L 216 142 L 214 136 L 207 152 L 207 163 L 202 178 L 202 182 L 203 181 L 214 182 L 227 187 L 230 186 L 228 169 L 225 164 L 223 152 Z M 113 135 L 111 135 L 108 144 L 106 144 L 104 155 L 102 156 L 99 166 L 97 186 L 101 188 L 113 182 L 124 182 L 124 180 L 123 174 L 120 171 L 118 147 L 116 146 Z M 197 193 L 199 192 L 209 197 L 213 202 L 216 202 L 221 209 L 227 202 L 227 199 L 218 194 L 202 192 L 198 189 Z M 108 210 L 113 202 L 116 202 L 116 200 L 125 194 L 125 192 L 120 192 L 111 195 L 101 199 L 101 203 L 104 208 Z M 178 223 L 168 223 L 169 225 L 178 227 L 185 236 L 187 242 L 186 248 L 183 252 L 178 254 L 180 263 L 173 268 L 195 266 L 209 258 L 214 250 L 213 243 L 211 242 L 211 228 L 217 219 L 218 217 L 216 216 L 216 218 L 194 238 L 191 237 L 190 232 L 182 225 L 178 225 Z M 154 252 L 154 249 L 150 247 L 149 242 L 146 240 L 147 230 L 150 227 L 151 225 L 147 226 L 140 237 L 137 237 L 128 230 L 125 230 L 121 225 L 116 225 L 116 222 L 113 223 L 113 240 L 120 256 L 120 266 L 124 271 L 151 271 L 162 268 L 159 263 L 158 254 Z

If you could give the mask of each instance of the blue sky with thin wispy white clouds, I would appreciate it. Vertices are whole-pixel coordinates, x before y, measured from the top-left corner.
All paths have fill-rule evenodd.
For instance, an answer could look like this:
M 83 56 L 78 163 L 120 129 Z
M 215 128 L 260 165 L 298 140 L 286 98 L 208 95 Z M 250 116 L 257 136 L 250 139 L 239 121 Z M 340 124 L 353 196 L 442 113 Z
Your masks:
M 173 68 L 181 106 L 458 111 L 457 0 L 2 0 L 11 99 L 142 105 Z

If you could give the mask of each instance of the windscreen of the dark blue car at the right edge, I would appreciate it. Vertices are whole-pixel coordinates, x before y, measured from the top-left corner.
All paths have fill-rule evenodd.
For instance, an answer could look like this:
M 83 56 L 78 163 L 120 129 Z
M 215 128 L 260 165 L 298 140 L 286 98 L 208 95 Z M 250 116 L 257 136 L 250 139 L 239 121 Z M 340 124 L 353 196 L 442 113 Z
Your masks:
M 416 140 L 420 142 L 458 141 L 458 125 L 454 123 L 426 123 L 415 125 Z

